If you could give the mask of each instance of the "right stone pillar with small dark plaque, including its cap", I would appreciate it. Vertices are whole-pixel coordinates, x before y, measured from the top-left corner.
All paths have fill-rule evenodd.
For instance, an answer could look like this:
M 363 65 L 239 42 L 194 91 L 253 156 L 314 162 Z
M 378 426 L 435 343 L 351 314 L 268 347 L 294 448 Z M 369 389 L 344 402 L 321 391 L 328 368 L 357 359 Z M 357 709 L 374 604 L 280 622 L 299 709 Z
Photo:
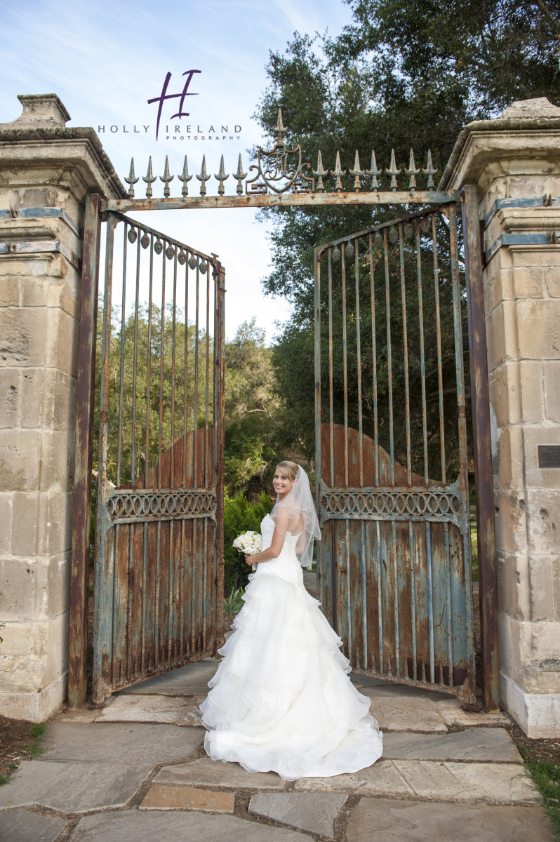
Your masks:
M 484 228 L 502 702 L 530 737 L 558 737 L 560 108 L 467 125 L 440 188 L 466 184 Z

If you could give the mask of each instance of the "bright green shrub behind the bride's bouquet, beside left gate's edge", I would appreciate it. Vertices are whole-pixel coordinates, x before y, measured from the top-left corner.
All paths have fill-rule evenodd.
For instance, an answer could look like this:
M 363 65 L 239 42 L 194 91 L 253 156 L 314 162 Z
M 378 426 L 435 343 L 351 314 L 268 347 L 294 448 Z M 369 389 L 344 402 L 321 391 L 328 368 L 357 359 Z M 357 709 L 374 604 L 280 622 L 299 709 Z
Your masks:
M 224 502 L 224 593 L 231 594 L 248 583 L 251 568 L 245 563 L 241 552 L 233 548 L 233 541 L 242 532 L 260 532 L 260 522 L 272 511 L 273 501 L 262 492 L 254 503 L 244 494 L 226 497 Z

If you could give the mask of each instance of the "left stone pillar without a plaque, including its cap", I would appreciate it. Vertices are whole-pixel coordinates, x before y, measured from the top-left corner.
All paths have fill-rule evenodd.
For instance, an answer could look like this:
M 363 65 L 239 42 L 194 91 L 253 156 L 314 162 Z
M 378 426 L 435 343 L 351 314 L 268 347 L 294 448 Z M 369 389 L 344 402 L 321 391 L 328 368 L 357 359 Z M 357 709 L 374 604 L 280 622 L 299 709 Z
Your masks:
M 55 94 L 0 124 L 0 713 L 66 698 L 80 242 L 88 193 L 125 191 Z

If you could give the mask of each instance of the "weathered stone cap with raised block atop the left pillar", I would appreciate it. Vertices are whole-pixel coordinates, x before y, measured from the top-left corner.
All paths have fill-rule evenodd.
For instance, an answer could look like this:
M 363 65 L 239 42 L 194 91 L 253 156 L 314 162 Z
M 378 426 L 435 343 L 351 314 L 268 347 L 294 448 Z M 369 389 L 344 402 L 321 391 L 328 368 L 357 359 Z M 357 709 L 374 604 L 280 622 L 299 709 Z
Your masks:
M 15 173 L 21 168 L 62 168 L 78 174 L 79 201 L 88 193 L 125 198 L 126 189 L 97 133 L 90 126 L 68 127 L 70 115 L 56 93 L 25 93 L 18 99 L 22 114 L 11 123 L 0 123 L 0 169 Z

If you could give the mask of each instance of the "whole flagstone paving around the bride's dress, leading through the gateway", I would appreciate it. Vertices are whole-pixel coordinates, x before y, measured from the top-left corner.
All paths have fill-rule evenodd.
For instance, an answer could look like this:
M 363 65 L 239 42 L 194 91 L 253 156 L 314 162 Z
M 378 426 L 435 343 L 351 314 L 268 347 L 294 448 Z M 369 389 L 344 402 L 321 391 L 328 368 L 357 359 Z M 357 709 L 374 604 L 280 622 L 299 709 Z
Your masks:
M 509 717 L 353 675 L 385 732 L 382 759 L 289 783 L 205 756 L 199 705 L 217 665 L 206 658 L 48 723 L 43 754 L 0 788 L 0 842 L 552 840 Z M 456 723 L 465 729 L 450 732 Z

